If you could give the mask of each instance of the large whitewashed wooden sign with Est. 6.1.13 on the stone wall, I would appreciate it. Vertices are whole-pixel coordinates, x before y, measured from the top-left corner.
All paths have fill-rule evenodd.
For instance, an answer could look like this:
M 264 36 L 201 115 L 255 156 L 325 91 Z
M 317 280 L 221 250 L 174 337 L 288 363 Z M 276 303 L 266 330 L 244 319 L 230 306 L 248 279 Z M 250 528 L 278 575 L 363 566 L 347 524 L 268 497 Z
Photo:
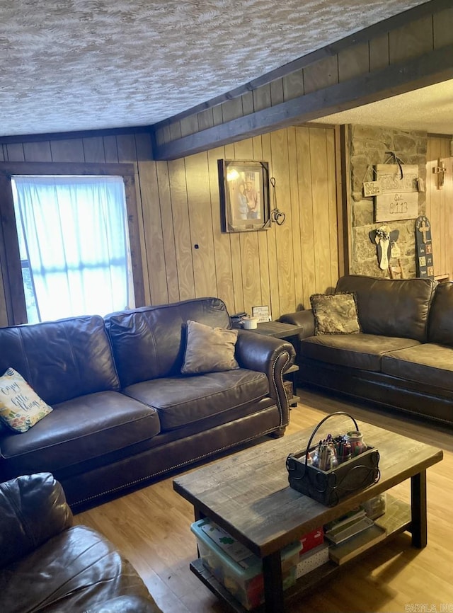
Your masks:
M 375 196 L 375 222 L 393 222 L 397 219 L 417 217 L 418 166 L 416 164 L 378 164 L 376 179 L 381 184 L 382 193 Z

